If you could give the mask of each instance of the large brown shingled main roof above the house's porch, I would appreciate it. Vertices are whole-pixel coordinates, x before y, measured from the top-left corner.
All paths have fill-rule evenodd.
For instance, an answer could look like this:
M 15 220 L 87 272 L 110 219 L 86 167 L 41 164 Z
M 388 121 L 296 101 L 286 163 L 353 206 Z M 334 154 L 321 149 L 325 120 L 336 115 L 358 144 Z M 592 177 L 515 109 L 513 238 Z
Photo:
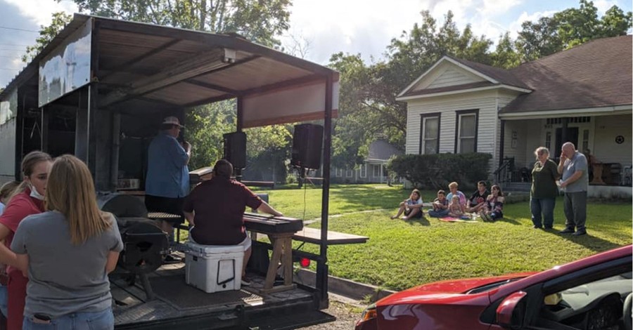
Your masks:
M 632 104 L 632 36 L 596 39 L 510 70 L 530 89 L 499 114 Z

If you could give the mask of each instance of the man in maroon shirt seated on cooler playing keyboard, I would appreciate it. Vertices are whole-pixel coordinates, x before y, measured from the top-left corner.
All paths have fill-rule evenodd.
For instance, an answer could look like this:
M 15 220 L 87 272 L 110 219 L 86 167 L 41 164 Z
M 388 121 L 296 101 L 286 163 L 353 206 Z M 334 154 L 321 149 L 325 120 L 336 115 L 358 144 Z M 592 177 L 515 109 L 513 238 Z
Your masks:
M 213 166 L 213 176 L 203 181 L 186 197 L 184 215 L 193 227 L 189 239 L 203 245 L 244 246 L 242 285 L 249 285 L 245 277 L 250 258 L 250 238 L 244 227 L 246 206 L 273 216 L 283 214 L 273 209 L 242 183 L 232 180 L 233 165 L 220 159 Z

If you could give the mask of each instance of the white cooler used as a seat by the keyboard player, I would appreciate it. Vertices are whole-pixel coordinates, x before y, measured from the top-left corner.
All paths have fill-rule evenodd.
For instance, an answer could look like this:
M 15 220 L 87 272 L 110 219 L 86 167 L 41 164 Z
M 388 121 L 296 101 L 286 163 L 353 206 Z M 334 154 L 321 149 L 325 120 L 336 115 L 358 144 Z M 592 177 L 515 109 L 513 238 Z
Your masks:
M 242 279 L 244 246 L 200 245 L 187 242 L 185 281 L 212 293 L 239 290 Z

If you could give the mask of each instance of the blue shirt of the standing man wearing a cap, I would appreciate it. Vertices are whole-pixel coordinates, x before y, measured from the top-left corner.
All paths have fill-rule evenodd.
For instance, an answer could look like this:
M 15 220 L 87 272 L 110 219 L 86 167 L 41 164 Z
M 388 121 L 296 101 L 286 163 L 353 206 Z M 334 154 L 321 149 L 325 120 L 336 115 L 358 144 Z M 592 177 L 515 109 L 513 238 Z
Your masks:
M 160 132 L 147 152 L 145 193 L 158 197 L 185 197 L 189 192 L 188 156 L 178 140 Z

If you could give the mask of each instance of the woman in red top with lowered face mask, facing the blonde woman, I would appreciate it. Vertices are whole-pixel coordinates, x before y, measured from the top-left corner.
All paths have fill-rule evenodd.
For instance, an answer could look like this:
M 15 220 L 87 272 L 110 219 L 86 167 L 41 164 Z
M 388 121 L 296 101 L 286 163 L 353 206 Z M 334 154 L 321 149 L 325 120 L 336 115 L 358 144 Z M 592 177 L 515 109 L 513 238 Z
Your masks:
M 46 182 L 53 159 L 46 152 L 29 152 L 22 160 L 23 181 L 8 197 L 6 209 L 0 216 L 0 262 L 8 265 L 6 268 L 8 309 L 7 329 L 22 329 L 24 301 L 28 278 L 13 267 L 16 262 L 15 253 L 8 249 L 20 222 L 32 214 L 44 212 L 44 194 Z

